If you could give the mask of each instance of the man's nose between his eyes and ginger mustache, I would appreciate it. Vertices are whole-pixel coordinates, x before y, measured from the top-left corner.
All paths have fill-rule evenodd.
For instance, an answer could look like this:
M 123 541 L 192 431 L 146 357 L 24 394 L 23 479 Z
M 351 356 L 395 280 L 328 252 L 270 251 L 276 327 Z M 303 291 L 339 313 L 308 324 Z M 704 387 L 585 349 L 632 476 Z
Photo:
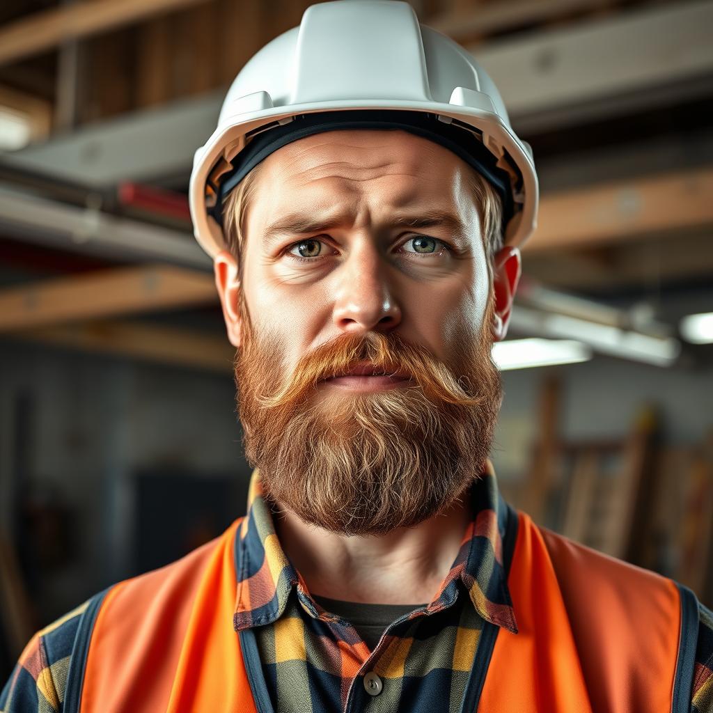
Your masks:
M 373 243 L 349 255 L 338 279 L 333 319 L 342 332 L 390 332 L 401 322 L 389 267 Z

